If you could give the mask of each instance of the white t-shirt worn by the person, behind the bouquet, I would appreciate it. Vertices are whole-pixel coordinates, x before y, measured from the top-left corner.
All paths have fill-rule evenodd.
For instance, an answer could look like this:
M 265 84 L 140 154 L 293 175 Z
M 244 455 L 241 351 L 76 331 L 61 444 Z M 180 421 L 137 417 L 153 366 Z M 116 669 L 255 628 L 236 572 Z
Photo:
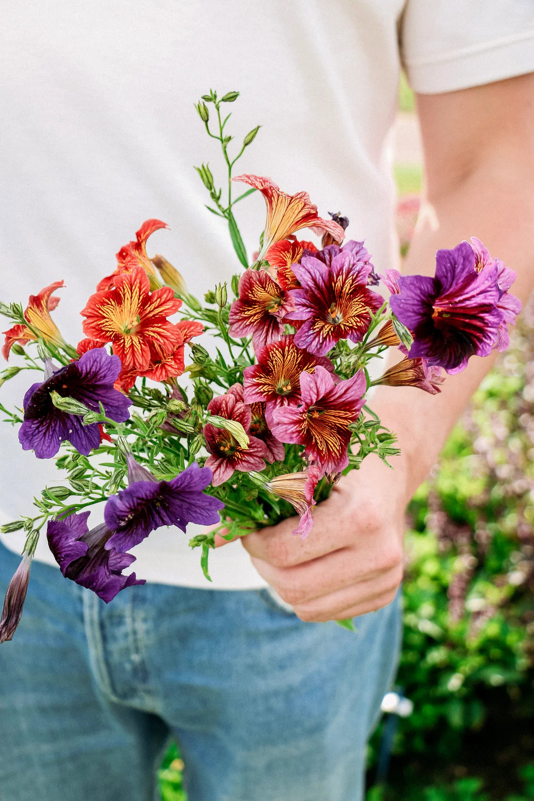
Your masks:
M 211 87 L 241 92 L 228 105 L 237 143 L 263 125 L 239 172 L 309 191 L 321 215 L 347 215 L 347 235 L 366 239 L 379 271 L 394 266 L 388 143 L 401 64 L 423 93 L 534 70 L 532 0 L 5 0 L 2 300 L 26 304 L 64 279 L 54 320 L 76 344 L 78 310 L 149 217 L 171 225 L 151 237 L 149 254 L 167 256 L 191 292 L 239 272 L 193 169 L 209 160 L 223 180 L 217 143 L 193 107 Z M 236 216 L 250 255 L 261 196 Z M 21 405 L 30 380 L 21 372 L 0 401 Z M 15 429 L 2 424 L 0 437 L 3 522 L 32 513 L 33 495 L 58 474 L 53 461 L 22 451 Z M 91 523 L 100 519 L 91 513 Z M 152 533 L 133 549 L 132 570 L 154 582 L 264 586 L 239 543 L 211 554 L 208 584 L 188 539 L 178 529 Z M 19 534 L 2 541 L 22 547 Z M 44 533 L 37 557 L 53 563 Z

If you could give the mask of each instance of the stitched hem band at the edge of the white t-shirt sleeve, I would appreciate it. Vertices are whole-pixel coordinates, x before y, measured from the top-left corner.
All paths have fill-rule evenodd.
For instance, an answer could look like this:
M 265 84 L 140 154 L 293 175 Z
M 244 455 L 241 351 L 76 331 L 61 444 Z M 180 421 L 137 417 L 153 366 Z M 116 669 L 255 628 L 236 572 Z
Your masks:
M 460 50 L 432 61 L 405 63 L 408 82 L 421 95 L 439 95 L 534 71 L 534 30 L 515 39 L 491 42 L 484 49 Z

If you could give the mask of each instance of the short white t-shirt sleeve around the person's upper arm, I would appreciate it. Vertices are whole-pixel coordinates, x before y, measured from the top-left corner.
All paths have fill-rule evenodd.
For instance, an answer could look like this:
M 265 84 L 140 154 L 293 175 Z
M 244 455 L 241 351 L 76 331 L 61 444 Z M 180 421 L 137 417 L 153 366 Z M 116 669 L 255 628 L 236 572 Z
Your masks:
M 424 95 L 534 72 L 534 0 L 407 0 L 401 60 Z

